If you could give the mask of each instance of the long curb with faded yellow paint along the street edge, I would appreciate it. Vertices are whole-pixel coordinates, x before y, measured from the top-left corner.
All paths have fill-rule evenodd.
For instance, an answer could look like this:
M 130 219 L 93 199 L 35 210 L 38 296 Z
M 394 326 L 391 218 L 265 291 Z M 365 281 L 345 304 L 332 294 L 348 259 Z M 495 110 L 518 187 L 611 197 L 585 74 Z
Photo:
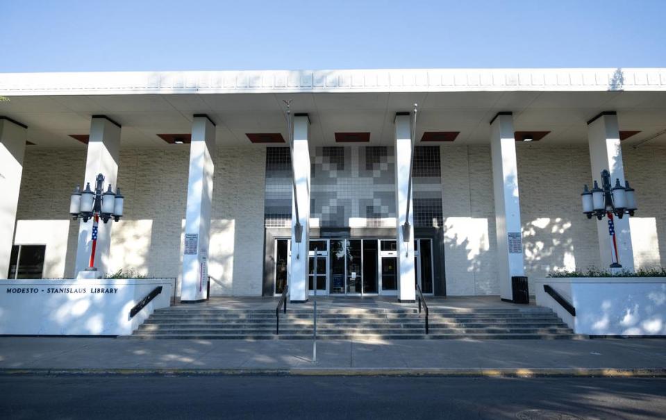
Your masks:
M 0 369 L 3 376 L 442 376 L 476 378 L 666 378 L 656 369 L 456 369 L 456 368 L 294 368 L 294 369 Z

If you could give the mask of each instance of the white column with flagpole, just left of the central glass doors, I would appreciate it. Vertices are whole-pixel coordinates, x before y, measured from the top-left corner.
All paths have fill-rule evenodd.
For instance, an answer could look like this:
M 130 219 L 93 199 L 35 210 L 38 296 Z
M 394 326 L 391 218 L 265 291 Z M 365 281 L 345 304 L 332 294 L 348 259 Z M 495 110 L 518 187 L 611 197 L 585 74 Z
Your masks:
M 310 249 L 310 119 L 307 114 L 294 115 L 294 151 L 292 166 L 296 194 L 292 193 L 292 254 L 289 272 L 289 299 L 292 302 L 308 300 L 308 250 Z M 300 243 L 297 241 L 296 201 L 299 206 L 299 222 L 303 226 Z

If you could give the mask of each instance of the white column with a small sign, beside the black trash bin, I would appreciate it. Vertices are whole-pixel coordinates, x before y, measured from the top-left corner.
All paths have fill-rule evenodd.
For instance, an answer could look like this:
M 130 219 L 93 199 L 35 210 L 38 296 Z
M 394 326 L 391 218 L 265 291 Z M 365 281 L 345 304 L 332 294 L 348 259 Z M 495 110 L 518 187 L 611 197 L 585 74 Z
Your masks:
M 524 276 L 518 169 L 513 115 L 499 112 L 490 121 L 492 184 L 497 230 L 497 276 L 501 299 L 513 301 L 511 277 Z

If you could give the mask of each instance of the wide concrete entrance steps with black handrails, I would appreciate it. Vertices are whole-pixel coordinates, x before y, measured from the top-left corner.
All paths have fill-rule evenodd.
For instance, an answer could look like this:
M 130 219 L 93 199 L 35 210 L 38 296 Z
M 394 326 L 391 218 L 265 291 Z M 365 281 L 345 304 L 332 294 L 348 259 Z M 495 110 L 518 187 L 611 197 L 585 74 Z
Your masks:
M 431 309 L 430 333 L 424 317 L 407 308 L 327 308 L 317 310 L 317 339 L 560 339 L 573 331 L 549 308 Z M 275 310 L 221 309 L 196 305 L 156 310 L 135 339 L 310 339 L 313 312 L 290 306 Z

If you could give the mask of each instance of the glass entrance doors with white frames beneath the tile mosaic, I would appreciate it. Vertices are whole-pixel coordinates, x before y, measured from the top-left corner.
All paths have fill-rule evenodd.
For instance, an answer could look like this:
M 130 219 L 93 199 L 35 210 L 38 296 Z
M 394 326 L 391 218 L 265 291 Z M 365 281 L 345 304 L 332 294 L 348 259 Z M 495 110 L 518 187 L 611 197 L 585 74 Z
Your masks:
M 276 240 L 275 294 L 287 283 L 290 240 Z M 415 282 L 424 294 L 433 294 L 431 239 L 414 241 Z M 310 295 L 397 296 L 397 243 L 381 238 L 312 239 L 309 244 L 308 290 Z M 316 262 L 316 271 L 315 271 Z

